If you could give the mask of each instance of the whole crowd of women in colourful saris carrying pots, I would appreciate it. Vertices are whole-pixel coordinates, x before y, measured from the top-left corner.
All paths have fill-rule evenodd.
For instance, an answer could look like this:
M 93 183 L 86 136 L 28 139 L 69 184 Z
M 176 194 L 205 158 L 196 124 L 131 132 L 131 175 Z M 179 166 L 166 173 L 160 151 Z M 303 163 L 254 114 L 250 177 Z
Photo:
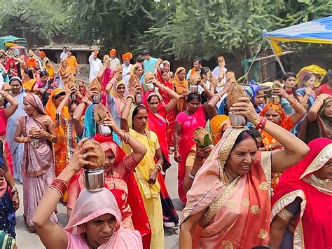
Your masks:
M 195 60 L 173 74 L 143 51 L 127 82 L 112 54 L 84 83 L 68 60 L 55 74 L 43 51 L 15 60 L 0 87 L 4 245 L 15 246 L 15 179 L 25 223 L 47 248 L 164 248 L 164 227 L 178 226 L 180 248 L 332 247 L 331 69 L 244 87 L 223 57 L 213 72 Z M 85 189 L 82 168 L 102 156 L 90 140 L 105 155 L 101 191 Z

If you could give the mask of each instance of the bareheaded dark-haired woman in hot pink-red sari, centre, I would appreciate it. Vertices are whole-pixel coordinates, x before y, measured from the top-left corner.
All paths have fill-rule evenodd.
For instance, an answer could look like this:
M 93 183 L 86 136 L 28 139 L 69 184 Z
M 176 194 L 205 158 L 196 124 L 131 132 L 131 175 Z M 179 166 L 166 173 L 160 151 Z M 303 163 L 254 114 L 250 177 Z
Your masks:
M 210 94 L 209 97 L 213 96 L 209 90 L 207 93 Z M 174 160 L 179 163 L 178 194 L 183 203 L 186 203 L 186 194 L 182 187 L 187 171 L 186 166 L 193 166 L 196 153 L 193 131 L 198 127 L 205 128 L 205 112 L 207 112 L 208 104 L 205 102 L 201 105 L 198 93 L 189 93 L 186 101 L 186 111 L 177 115 L 174 128 Z

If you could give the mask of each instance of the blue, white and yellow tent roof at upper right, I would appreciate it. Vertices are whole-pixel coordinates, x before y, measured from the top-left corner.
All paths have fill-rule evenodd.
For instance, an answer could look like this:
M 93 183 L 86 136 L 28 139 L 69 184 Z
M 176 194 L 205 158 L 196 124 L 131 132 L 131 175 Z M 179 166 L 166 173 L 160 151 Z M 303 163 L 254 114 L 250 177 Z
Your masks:
M 275 41 L 332 44 L 332 16 L 300 23 L 273 32 L 264 30 L 263 37 Z

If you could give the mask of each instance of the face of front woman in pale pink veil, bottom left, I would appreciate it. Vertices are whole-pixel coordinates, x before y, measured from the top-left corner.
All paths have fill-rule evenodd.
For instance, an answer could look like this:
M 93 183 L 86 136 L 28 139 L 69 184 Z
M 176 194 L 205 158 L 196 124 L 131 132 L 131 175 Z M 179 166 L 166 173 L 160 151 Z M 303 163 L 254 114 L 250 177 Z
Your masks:
M 116 229 L 116 217 L 111 214 L 100 215 L 86 222 L 84 227 L 89 241 L 93 241 L 94 244 L 104 245 L 109 242 Z

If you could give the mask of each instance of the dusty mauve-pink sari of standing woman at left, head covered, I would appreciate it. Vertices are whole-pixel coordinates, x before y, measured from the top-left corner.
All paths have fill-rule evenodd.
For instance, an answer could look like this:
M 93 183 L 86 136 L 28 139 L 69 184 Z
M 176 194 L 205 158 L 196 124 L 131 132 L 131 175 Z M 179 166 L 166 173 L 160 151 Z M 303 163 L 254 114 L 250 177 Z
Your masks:
M 33 127 L 48 131 L 47 127 L 53 125 L 53 121 L 44 111 L 39 97 L 34 94 L 28 94 L 24 98 L 43 116 L 37 119 L 33 116 L 21 116 L 19 118 L 19 126 L 22 130 L 22 135 L 27 137 Z M 32 217 L 36 212 L 36 208 L 41 201 L 41 197 L 55 178 L 53 145 L 45 139 L 40 139 L 39 144 L 38 148 L 33 147 L 30 142 L 24 144 L 22 163 L 23 217 L 25 223 L 32 229 L 34 228 Z M 50 220 L 57 223 L 57 216 L 54 212 L 50 215 Z

